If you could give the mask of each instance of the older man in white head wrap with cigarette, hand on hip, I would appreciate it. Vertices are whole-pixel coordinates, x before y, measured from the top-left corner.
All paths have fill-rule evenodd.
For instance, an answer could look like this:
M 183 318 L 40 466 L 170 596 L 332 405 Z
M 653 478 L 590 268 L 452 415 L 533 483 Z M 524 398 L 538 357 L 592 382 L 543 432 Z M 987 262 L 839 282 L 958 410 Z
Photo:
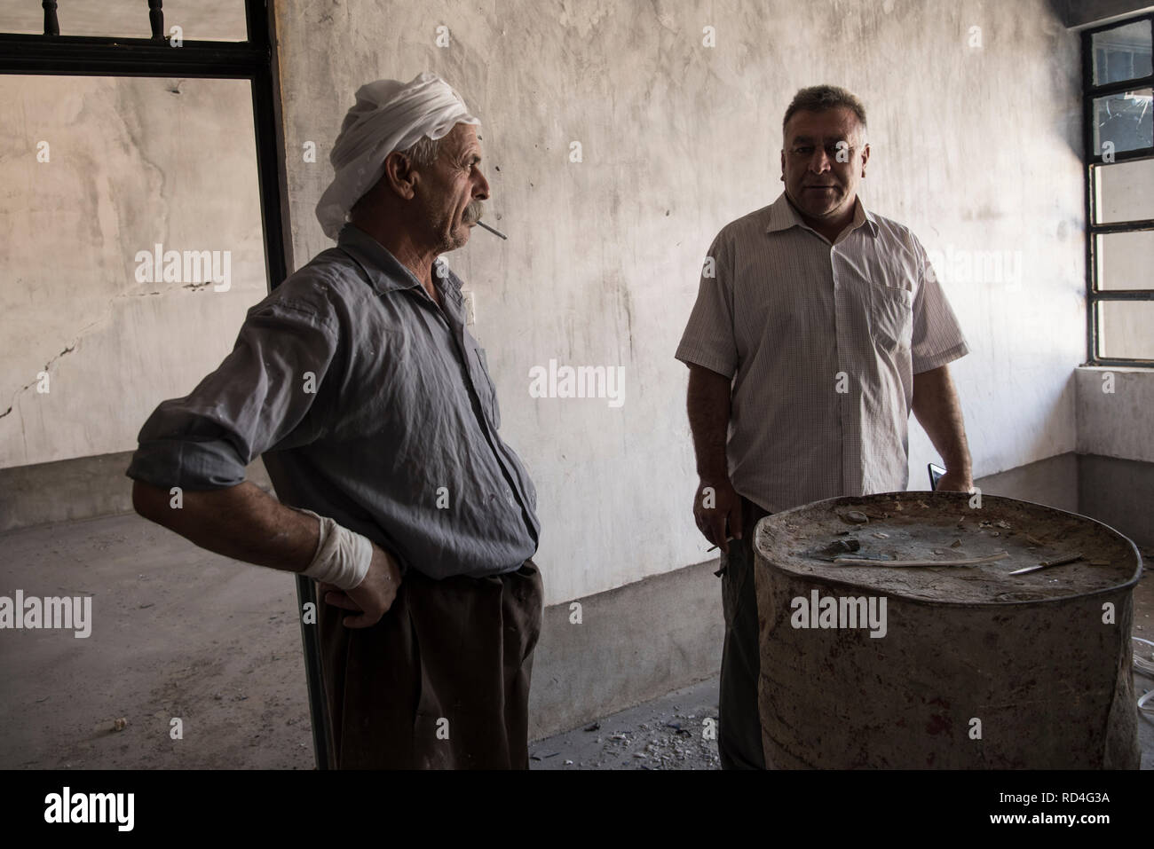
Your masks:
M 336 247 L 157 408 L 128 468 L 147 518 L 319 581 L 330 766 L 529 767 L 537 494 L 462 281 L 434 272 L 489 196 L 478 125 L 432 74 L 361 87 L 317 205 Z M 257 454 L 280 501 L 245 480 Z

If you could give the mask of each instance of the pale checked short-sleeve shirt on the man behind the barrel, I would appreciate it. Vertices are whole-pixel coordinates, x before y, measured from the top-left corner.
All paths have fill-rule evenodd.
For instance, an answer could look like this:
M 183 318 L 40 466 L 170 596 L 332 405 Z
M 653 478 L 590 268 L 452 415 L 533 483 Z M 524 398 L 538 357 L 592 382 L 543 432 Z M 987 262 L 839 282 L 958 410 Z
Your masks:
M 905 490 L 914 375 L 968 352 L 909 230 L 859 200 L 831 245 L 782 193 L 713 240 L 676 358 L 733 380 L 730 480 L 779 512 Z

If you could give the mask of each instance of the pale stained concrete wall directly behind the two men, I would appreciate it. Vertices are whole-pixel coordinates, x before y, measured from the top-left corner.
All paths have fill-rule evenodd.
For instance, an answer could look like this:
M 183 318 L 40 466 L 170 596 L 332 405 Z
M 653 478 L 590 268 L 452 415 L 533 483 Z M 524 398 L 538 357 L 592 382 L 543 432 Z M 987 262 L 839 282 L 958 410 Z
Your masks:
M 313 206 L 358 85 L 429 69 L 485 122 L 489 206 L 510 239 L 477 233 L 450 261 L 477 295 L 503 433 L 538 482 L 550 602 L 707 556 L 689 513 L 685 369 L 673 351 L 714 233 L 780 191 L 781 113 L 805 84 L 864 98 L 867 202 L 952 257 L 939 273 L 974 348 L 954 374 L 975 473 L 1073 449 L 1080 65 L 1049 3 L 292 0 L 277 10 L 298 263 L 328 245 Z M 705 27 L 715 47 L 703 46 Z M 302 161 L 308 141 L 316 164 Z M 995 253 L 1007 260 L 1001 272 L 973 270 Z M 550 359 L 624 366 L 624 406 L 531 398 L 529 370 Z M 923 488 L 934 452 L 916 424 L 911 449 Z

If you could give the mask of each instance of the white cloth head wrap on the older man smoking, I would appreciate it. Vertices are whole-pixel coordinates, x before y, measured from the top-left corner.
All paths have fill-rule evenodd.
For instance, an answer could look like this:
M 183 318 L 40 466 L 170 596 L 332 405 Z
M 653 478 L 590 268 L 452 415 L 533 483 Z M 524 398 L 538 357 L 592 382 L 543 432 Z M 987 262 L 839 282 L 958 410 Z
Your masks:
M 407 85 L 399 80 L 377 80 L 357 89 L 357 103 L 345 115 L 329 155 L 337 174 L 316 204 L 324 234 L 337 238 L 349 210 L 384 174 L 389 153 L 411 148 L 422 136 L 443 138 L 458 123 L 480 121 L 436 74 L 422 72 Z

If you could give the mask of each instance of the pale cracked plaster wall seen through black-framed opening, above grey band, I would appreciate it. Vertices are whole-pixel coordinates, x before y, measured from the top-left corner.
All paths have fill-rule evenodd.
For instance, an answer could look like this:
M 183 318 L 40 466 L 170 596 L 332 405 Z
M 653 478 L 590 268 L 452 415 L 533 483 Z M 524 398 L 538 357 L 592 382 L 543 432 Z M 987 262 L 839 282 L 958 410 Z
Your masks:
M 134 449 L 267 292 L 248 83 L 0 76 L 0 467 Z M 231 250 L 230 291 L 137 283 L 157 242 Z

